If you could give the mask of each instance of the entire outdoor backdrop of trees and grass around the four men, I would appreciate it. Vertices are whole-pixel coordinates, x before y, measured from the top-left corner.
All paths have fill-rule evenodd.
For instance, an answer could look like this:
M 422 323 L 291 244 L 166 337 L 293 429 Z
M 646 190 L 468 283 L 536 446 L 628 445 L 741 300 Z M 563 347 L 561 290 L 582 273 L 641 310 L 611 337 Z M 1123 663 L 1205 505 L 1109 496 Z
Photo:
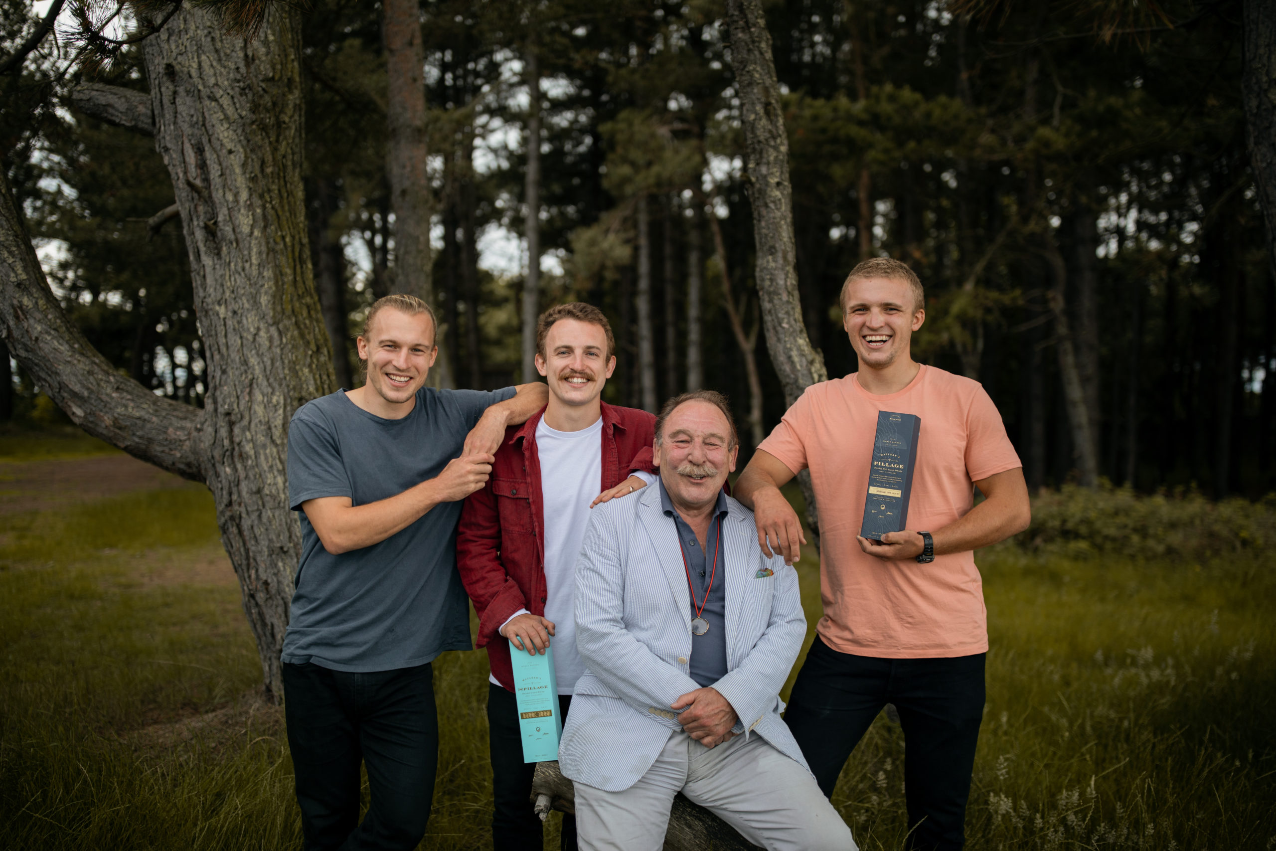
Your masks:
M 971 847 L 1276 847 L 1273 126 L 1258 0 L 0 0 L 0 834 L 299 843 L 285 435 L 376 296 L 450 387 L 597 304 L 609 399 L 723 390 L 746 458 L 891 255 L 1035 492 L 979 556 Z M 425 847 L 489 841 L 485 677 L 436 663 Z M 902 758 L 883 714 L 843 771 L 861 847 Z

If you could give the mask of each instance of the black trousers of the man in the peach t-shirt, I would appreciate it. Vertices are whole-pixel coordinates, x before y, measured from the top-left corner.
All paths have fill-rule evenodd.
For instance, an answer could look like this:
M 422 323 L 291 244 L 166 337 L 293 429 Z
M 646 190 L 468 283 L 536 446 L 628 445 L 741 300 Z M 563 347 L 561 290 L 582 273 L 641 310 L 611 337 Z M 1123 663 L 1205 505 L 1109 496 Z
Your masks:
M 961 848 L 984 717 L 985 656 L 854 656 L 817 637 L 785 721 L 824 795 L 832 797 L 846 758 L 882 707 L 893 703 L 903 727 L 909 847 Z

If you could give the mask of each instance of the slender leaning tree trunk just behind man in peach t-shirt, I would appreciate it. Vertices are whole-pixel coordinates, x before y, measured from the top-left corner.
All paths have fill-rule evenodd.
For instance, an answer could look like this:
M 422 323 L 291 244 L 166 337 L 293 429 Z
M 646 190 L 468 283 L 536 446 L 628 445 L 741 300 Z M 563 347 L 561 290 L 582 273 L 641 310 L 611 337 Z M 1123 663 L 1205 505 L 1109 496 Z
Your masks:
M 806 336 L 798 296 L 789 137 L 785 134 L 780 84 L 776 82 L 762 0 L 727 0 L 726 20 L 748 154 L 746 186 L 753 205 L 762 328 L 771 362 L 785 390 L 785 404 L 792 404 L 808 387 L 828 380 L 828 370 L 823 355 L 815 351 Z M 810 473 L 803 471 L 798 481 L 806 498 L 806 524 L 818 536 L 819 514 Z M 818 547 L 818 538 L 814 542 Z

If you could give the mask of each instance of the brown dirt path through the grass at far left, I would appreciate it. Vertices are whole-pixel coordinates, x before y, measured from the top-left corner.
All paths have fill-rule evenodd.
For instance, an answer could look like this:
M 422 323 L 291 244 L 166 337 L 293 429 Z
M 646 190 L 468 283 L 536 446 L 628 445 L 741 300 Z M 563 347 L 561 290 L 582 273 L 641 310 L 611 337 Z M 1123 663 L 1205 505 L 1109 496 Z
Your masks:
M 0 462 L 0 517 L 184 486 L 182 478 L 125 454 Z

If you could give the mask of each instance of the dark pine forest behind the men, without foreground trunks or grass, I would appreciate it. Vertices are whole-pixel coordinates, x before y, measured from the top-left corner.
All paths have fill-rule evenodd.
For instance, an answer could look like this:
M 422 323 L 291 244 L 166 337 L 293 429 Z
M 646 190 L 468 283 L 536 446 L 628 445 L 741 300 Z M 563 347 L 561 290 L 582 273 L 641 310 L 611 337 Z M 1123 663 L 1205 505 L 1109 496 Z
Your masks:
M 29 29 L 31 8 L 5 5 L 6 32 Z M 1245 149 L 1240 10 L 1161 11 L 1105 40 L 1065 4 L 988 19 L 940 3 L 767 4 L 801 311 L 829 375 L 854 371 L 842 279 L 866 256 L 903 259 L 928 288 L 917 356 L 985 385 L 1034 489 L 1099 475 L 1258 496 L 1276 485 L 1276 287 Z M 512 15 L 427 1 L 420 13 L 441 383 L 526 378 L 538 196 L 532 314 L 600 305 L 619 342 L 610 401 L 655 408 L 712 387 L 752 448 L 785 394 L 758 333 L 721 9 L 564 0 Z M 302 27 L 306 225 L 334 371 L 351 387 L 353 334 L 398 265 L 383 14 L 323 1 Z M 92 73 L 46 52 L 4 80 L 0 154 L 51 282 L 115 367 L 199 406 L 181 227 L 152 219 L 172 204 L 168 175 L 151 139 L 66 97 L 82 79 L 144 91 L 138 51 Z M 1049 304 L 1058 274 L 1085 448 Z M 0 357 L 0 417 L 41 411 L 33 380 Z

